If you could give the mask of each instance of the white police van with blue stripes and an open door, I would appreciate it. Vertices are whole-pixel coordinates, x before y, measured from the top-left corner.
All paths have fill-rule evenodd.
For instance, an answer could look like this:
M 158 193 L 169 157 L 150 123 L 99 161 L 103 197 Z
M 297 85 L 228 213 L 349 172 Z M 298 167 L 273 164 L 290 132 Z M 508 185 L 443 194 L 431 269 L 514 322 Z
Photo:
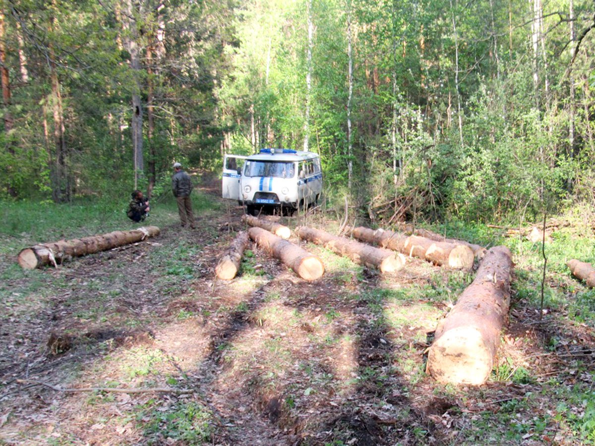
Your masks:
M 322 193 L 320 155 L 290 149 L 225 155 L 222 193 L 252 214 L 266 207 L 305 209 Z

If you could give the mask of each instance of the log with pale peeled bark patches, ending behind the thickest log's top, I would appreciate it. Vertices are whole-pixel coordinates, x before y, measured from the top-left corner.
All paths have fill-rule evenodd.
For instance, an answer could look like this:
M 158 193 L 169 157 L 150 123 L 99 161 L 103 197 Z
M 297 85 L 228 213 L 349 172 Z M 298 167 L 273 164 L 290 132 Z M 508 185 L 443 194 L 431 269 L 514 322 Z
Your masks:
M 471 248 L 464 244 L 434 241 L 418 235 L 406 235 L 359 227 L 353 230 L 353 237 L 366 243 L 373 243 L 383 248 L 399 251 L 410 257 L 419 257 L 436 265 L 450 268 L 471 269 L 474 255 Z

